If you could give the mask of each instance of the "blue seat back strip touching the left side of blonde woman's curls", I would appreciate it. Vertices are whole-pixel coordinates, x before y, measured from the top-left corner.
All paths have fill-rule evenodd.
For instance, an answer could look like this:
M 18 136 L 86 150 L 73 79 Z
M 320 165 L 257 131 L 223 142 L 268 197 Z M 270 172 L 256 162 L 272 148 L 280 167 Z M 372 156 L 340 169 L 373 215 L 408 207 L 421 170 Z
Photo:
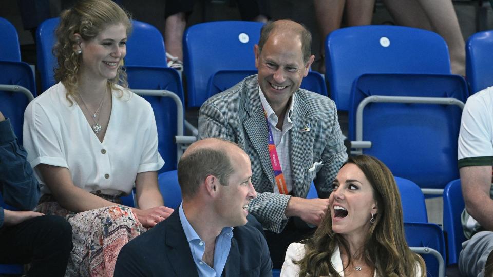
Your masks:
M 41 90 L 45 91 L 55 84 L 54 69 L 58 66 L 56 58 L 52 53 L 56 42 L 55 29 L 60 18 L 46 19 L 36 30 L 36 56 L 37 69 L 41 77 Z

